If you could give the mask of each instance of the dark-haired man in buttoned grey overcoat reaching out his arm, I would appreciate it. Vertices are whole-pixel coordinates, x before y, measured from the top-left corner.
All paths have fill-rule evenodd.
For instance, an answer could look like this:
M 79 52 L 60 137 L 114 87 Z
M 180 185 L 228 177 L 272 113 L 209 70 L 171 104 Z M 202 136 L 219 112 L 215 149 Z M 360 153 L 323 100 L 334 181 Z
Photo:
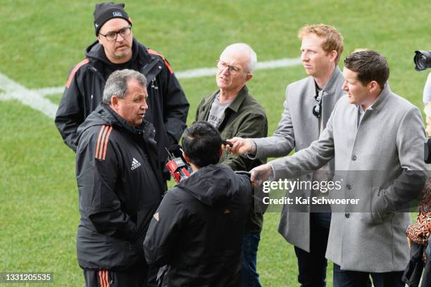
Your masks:
M 405 230 L 411 219 L 408 212 L 396 211 L 417 198 L 425 184 L 422 117 L 389 89 L 389 67 L 379 53 L 352 53 L 344 60 L 343 76 L 346 95 L 318 141 L 256 167 L 251 179 L 292 178 L 335 159 L 336 171 L 350 172 L 342 191 L 361 194 L 366 200 L 361 208 L 369 208 L 332 212 L 326 257 L 335 263 L 334 286 L 366 286 L 370 276 L 375 287 L 404 286 Z

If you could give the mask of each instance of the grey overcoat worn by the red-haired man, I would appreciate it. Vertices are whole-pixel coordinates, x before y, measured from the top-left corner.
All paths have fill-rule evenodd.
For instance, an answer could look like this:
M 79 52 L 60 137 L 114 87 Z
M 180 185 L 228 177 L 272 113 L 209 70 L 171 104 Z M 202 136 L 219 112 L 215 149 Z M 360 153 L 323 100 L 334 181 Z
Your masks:
M 343 94 L 343 82 L 344 77 L 337 66 L 323 89 L 321 115 L 323 127 L 326 126 L 335 103 Z M 314 96 L 316 96 L 316 83 L 313 77 L 306 77 L 287 86 L 285 110 L 274 135 L 253 139 L 257 148 L 256 158 L 288 155 L 293 148 L 300 151 L 319 138 L 319 121 L 312 113 L 313 107 L 318 103 Z M 334 169 L 333 160 L 329 168 Z M 310 180 L 311 176 L 312 174 L 306 174 L 299 179 Z M 289 243 L 310 252 L 310 214 L 308 212 L 290 212 L 285 206 L 278 231 Z

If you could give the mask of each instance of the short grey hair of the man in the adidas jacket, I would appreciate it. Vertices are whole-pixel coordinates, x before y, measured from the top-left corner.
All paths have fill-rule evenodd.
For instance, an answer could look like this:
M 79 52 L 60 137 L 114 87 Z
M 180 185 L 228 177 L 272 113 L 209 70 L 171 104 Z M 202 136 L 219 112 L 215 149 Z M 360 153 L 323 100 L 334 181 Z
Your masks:
M 118 96 L 118 98 L 125 98 L 127 95 L 127 81 L 129 79 L 136 79 L 142 87 L 146 87 L 146 77 L 140 72 L 130 69 L 117 70 L 106 81 L 102 103 L 109 105 L 114 95 Z

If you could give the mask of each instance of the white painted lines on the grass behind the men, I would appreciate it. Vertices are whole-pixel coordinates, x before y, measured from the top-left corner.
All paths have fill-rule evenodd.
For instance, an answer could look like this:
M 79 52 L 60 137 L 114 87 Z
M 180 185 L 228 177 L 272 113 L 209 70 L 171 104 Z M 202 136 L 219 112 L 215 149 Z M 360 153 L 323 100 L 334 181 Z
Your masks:
M 291 67 L 301 64 L 301 58 L 285 58 L 280 60 L 268 60 L 266 62 L 259 62 L 255 70 L 266 70 L 273 68 Z M 175 72 L 178 79 L 191 79 L 194 77 L 207 77 L 215 75 L 215 68 L 200 68 L 193 70 L 185 70 Z M 64 87 L 48 87 L 42 89 L 26 89 L 20 84 L 9 79 L 0 73 L 0 87 L 5 91 L 0 94 L 0 100 L 6 101 L 16 99 L 30 108 L 39 110 L 48 117 L 54 119 L 57 111 L 57 105 L 44 98 L 44 96 L 51 94 L 62 94 Z

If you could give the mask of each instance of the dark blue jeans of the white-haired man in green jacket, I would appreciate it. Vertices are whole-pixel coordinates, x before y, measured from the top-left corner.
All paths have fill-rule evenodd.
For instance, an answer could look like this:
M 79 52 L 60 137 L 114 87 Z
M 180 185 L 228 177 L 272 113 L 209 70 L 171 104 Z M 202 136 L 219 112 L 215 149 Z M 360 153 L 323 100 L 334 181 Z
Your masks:
M 256 260 L 260 232 L 250 232 L 242 238 L 242 286 L 261 287 L 259 274 L 256 272 Z

